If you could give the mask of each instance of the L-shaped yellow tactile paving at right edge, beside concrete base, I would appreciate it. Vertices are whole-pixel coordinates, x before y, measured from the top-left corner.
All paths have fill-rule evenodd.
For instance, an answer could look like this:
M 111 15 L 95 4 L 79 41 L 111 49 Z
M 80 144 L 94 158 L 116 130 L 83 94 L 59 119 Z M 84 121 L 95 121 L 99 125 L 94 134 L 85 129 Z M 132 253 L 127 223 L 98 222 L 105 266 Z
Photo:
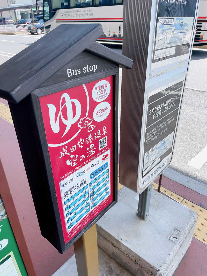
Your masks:
M 198 214 L 198 221 L 195 227 L 193 237 L 207 244 L 207 210 L 184 199 L 182 204 L 195 211 Z

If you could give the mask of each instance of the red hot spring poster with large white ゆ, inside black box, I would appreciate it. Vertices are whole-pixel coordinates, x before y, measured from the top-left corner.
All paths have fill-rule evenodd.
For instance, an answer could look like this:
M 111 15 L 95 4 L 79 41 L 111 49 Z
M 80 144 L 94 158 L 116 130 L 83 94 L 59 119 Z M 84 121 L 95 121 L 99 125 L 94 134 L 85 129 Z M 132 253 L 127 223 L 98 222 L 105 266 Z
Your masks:
M 113 77 L 39 100 L 67 243 L 113 201 Z

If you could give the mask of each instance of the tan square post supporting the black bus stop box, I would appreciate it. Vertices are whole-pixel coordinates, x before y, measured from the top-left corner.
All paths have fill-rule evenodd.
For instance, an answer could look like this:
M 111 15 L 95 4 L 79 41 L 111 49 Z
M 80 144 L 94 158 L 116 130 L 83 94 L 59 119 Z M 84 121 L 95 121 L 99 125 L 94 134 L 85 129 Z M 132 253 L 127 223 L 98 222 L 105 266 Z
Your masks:
M 96 224 L 74 243 L 78 276 L 99 276 Z

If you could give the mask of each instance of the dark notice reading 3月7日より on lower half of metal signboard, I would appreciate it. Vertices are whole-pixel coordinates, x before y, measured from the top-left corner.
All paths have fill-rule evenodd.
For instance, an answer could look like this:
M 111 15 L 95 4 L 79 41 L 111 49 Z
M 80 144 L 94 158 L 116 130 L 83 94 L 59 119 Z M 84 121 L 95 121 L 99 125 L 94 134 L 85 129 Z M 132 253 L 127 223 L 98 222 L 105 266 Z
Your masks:
M 181 108 L 184 78 L 148 93 L 141 188 L 169 165 Z

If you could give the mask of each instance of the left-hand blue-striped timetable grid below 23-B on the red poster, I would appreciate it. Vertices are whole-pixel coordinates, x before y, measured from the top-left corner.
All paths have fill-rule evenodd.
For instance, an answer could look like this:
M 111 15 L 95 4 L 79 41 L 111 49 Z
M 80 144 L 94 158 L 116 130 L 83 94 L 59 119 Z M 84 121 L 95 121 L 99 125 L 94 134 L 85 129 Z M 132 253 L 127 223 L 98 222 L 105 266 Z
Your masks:
M 64 202 L 68 229 L 75 225 L 90 211 L 88 185 L 69 197 Z

